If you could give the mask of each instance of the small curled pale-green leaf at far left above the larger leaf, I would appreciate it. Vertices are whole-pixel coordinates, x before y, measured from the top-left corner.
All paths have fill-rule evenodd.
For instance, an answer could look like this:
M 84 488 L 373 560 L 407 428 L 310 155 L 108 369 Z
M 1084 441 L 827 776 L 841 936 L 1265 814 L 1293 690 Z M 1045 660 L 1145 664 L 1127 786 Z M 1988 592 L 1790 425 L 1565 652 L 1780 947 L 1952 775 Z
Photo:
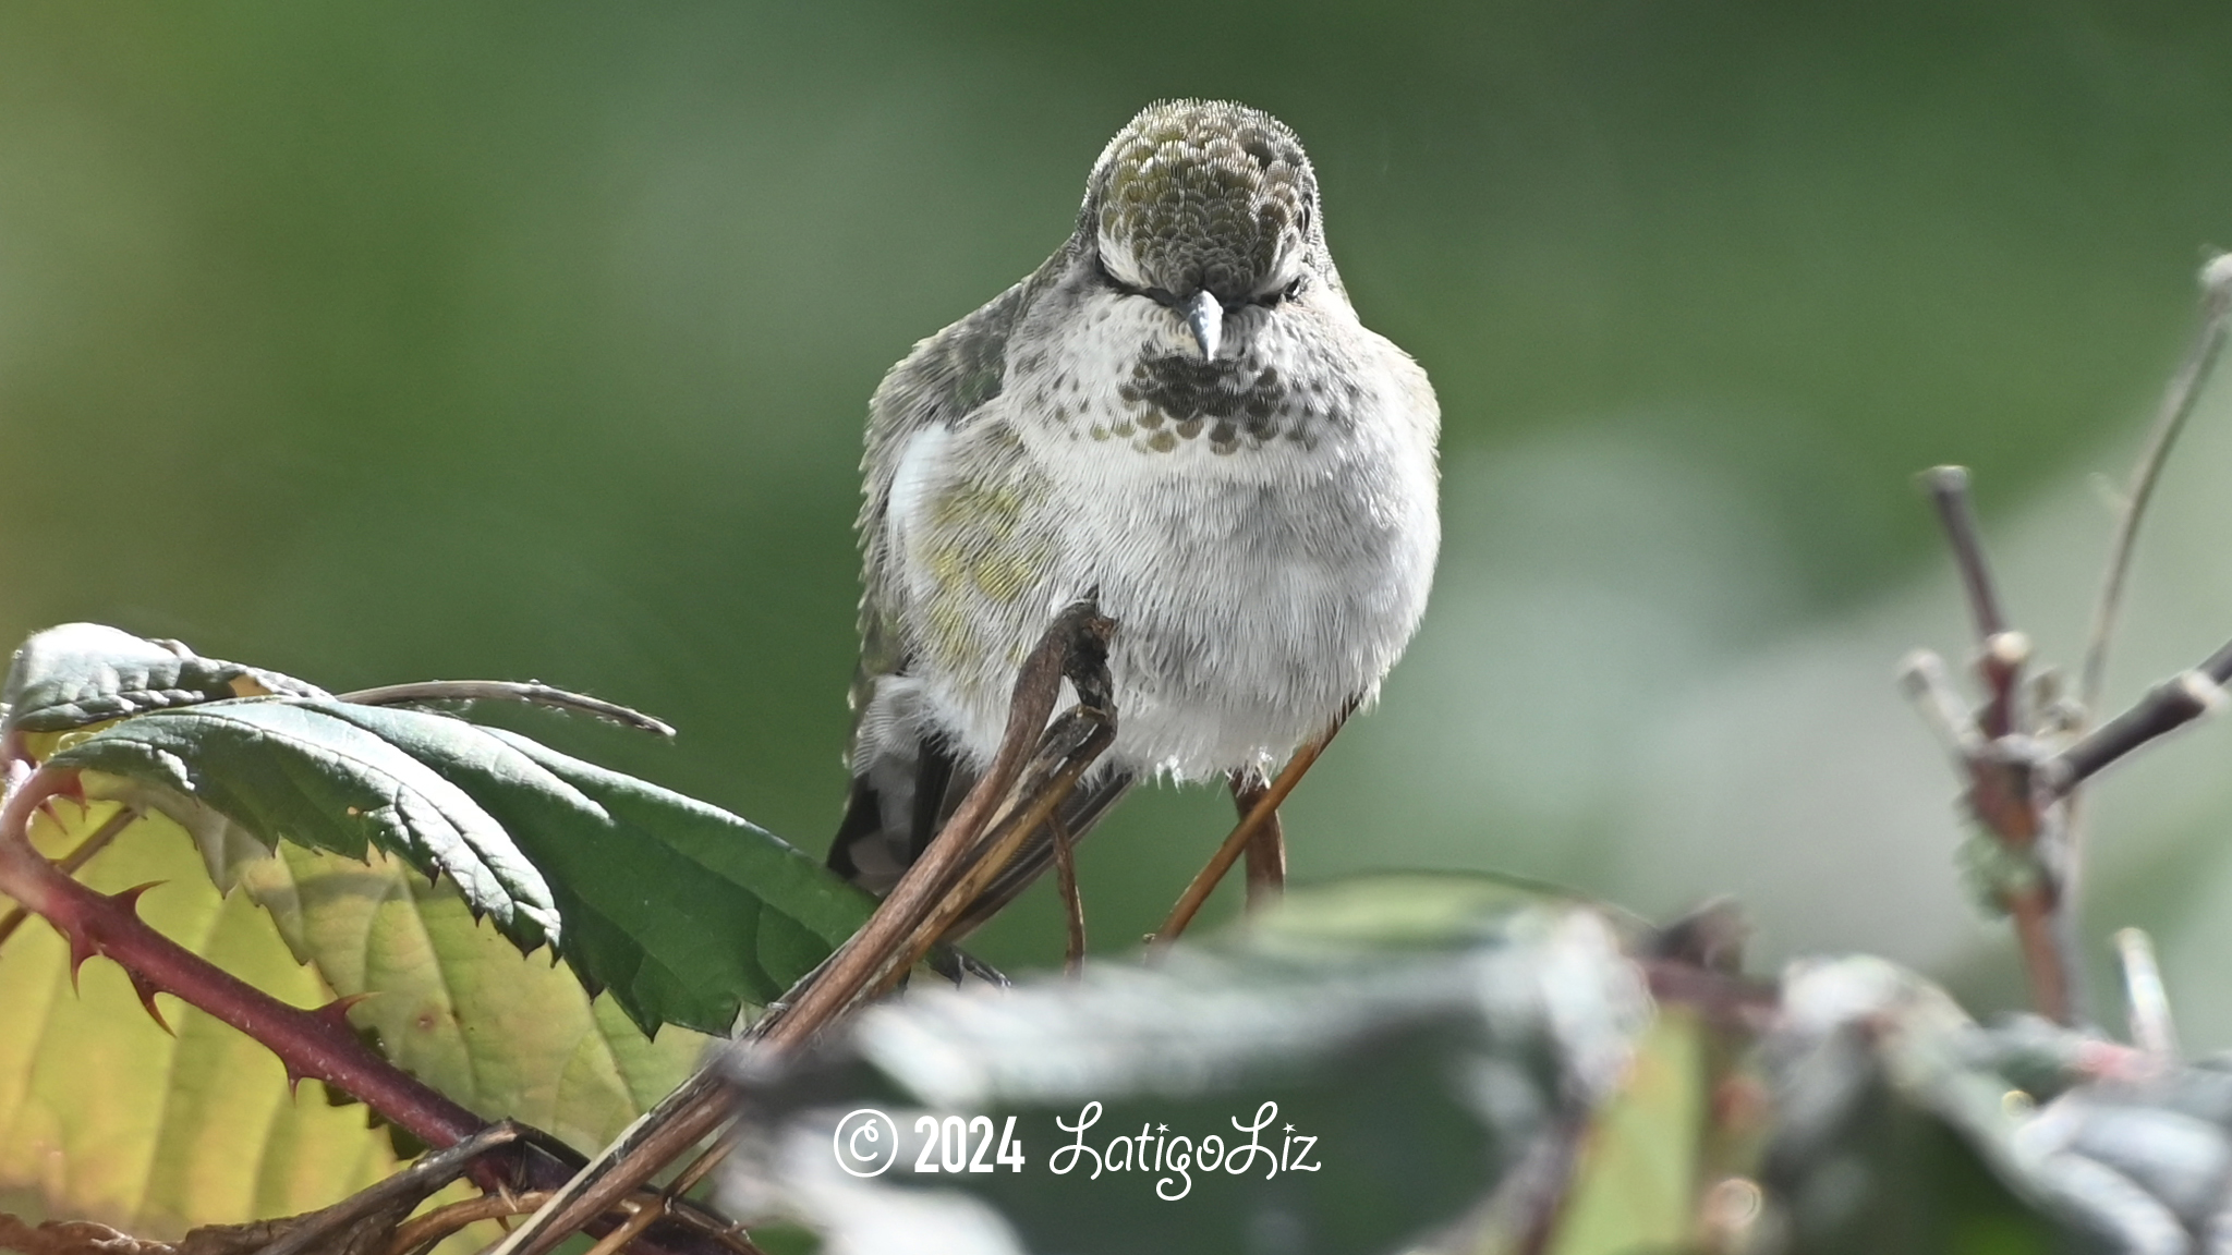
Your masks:
M 0 706 L 9 730 L 60 732 L 145 710 L 275 692 L 324 697 L 312 683 L 199 659 L 179 643 L 145 641 L 100 623 L 65 623 L 16 650 Z

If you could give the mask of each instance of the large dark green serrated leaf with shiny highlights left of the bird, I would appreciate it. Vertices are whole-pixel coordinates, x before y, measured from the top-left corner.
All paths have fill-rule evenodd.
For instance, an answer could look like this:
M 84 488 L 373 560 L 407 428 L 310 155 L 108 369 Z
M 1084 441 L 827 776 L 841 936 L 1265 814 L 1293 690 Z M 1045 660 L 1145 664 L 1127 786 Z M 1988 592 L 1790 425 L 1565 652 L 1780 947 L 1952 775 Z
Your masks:
M 873 900 L 721 808 L 446 715 L 335 699 L 210 701 L 92 732 L 56 766 L 127 777 L 194 831 L 384 849 L 455 880 L 522 949 L 551 942 L 645 1032 L 728 1032 Z

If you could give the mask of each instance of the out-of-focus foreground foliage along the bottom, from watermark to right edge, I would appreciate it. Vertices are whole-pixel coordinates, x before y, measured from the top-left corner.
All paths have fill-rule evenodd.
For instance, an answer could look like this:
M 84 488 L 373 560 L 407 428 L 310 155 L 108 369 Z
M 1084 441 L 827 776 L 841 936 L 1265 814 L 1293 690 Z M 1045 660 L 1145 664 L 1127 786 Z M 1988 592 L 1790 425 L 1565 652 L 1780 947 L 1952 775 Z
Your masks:
M 2199 1255 L 2232 1233 L 2223 1061 L 1984 1027 L 1879 958 L 1752 985 L 1661 938 L 1362 878 L 1145 969 L 911 996 L 804 1061 L 737 1056 L 723 1197 L 835 1255 Z

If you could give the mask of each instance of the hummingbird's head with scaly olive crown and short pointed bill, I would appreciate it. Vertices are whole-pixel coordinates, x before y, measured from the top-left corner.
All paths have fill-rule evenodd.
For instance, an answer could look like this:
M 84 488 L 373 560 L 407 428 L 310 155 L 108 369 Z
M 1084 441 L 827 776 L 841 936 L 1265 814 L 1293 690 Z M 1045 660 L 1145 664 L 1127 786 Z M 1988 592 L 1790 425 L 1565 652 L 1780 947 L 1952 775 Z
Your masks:
M 1109 286 L 1170 306 L 1212 360 L 1228 313 L 1330 281 L 1317 219 L 1317 176 L 1286 123 L 1225 100 L 1165 100 L 1100 152 L 1080 234 Z

